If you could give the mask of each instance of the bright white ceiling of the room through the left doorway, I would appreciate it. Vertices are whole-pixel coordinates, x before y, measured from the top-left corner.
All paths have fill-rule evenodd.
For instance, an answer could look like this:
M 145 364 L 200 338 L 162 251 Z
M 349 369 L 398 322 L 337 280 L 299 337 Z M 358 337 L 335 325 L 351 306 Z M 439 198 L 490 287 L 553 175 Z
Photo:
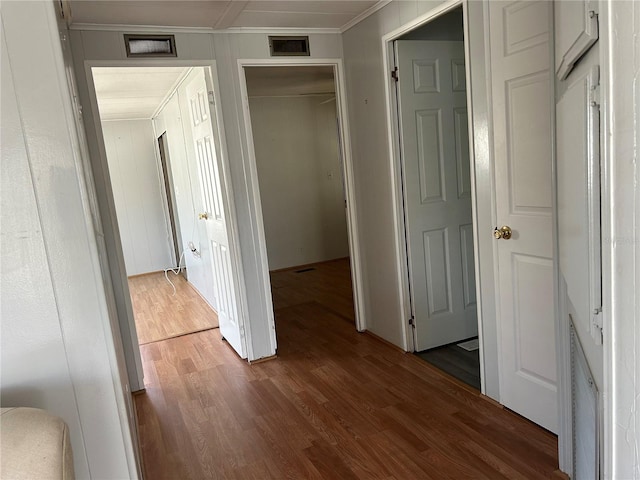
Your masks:
M 151 118 L 187 70 L 185 67 L 94 67 L 100 118 Z

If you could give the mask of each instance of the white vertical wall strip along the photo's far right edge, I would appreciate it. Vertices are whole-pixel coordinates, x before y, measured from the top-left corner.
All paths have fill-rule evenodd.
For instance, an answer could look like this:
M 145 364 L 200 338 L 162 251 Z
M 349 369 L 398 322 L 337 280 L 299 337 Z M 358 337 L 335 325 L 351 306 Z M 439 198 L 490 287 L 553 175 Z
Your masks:
M 603 2 L 604 478 L 640 478 L 640 4 Z

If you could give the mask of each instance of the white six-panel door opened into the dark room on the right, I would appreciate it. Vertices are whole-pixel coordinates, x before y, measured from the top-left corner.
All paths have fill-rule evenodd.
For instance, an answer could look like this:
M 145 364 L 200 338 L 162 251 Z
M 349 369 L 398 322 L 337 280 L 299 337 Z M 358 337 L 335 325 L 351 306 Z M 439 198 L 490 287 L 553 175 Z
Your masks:
M 478 334 L 463 42 L 398 40 L 415 349 Z

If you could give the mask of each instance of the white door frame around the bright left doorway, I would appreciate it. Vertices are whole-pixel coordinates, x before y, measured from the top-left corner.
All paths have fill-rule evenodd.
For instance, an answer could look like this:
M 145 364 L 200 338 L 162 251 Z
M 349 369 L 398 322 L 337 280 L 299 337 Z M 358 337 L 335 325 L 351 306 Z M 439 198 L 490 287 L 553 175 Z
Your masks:
M 104 143 L 104 132 L 102 131 L 102 122 L 100 120 L 100 111 L 98 108 L 98 99 L 96 95 L 95 83 L 93 79 L 92 68 L 94 67 L 185 67 L 185 68 L 195 68 L 195 67 L 203 67 L 208 68 L 211 73 L 211 80 L 213 82 L 213 90 L 214 90 L 214 105 L 210 105 L 210 108 L 215 109 L 217 125 L 212 125 L 213 128 L 218 128 L 218 133 L 220 136 L 220 152 L 222 155 L 221 162 L 223 165 L 222 178 L 225 182 L 225 192 L 226 198 L 224 199 L 228 205 L 228 213 L 229 218 L 227 219 L 229 222 L 229 244 L 233 249 L 231 261 L 233 263 L 233 274 L 235 280 L 237 282 L 238 287 L 238 323 L 239 327 L 242 330 L 245 329 L 245 315 L 247 310 L 247 292 L 244 281 L 244 273 L 242 270 L 242 258 L 240 252 L 240 243 L 239 243 L 239 231 L 238 231 L 238 219 L 236 214 L 235 202 L 233 197 L 233 188 L 231 184 L 230 178 L 230 166 L 229 166 L 229 155 L 227 150 L 226 143 L 226 134 L 224 131 L 224 121 L 222 117 L 222 103 L 219 100 L 220 96 L 220 82 L 218 78 L 218 69 L 217 63 L 215 60 L 177 60 L 177 59 L 139 59 L 139 60 L 85 60 L 84 61 L 84 73 L 85 79 L 87 82 L 87 90 L 89 94 L 89 108 L 91 109 L 91 116 L 93 117 L 93 128 L 97 137 L 97 147 L 99 151 L 99 157 L 96 163 L 100 166 L 103 175 L 106 178 L 109 178 L 109 184 L 107 190 L 107 195 L 110 197 L 110 203 L 113 204 L 113 186 L 111 185 L 109 172 L 109 166 L 107 162 L 106 148 Z M 168 92 L 171 93 L 171 92 Z M 155 112 L 154 112 L 155 113 Z M 154 136 L 155 136 L 154 130 Z M 151 140 L 151 139 L 150 139 Z M 154 145 L 157 149 L 157 138 L 154 139 Z M 92 179 L 95 178 L 95 174 L 91 173 Z M 166 215 L 167 206 L 163 205 L 163 211 Z M 97 209 L 96 209 L 97 210 Z M 103 219 L 103 221 L 108 221 L 113 225 L 117 226 L 117 216 L 115 210 L 111 210 L 109 212 L 109 218 Z M 99 221 L 96 222 L 100 224 Z M 119 229 L 116 229 L 114 232 L 114 240 L 117 242 L 122 242 L 120 237 Z M 110 257 L 113 257 L 111 255 Z M 131 307 L 131 295 L 129 291 L 129 285 L 127 282 L 126 276 L 126 268 L 124 264 L 124 254 L 122 249 L 119 249 L 116 253 L 116 258 L 107 258 L 106 265 L 109 269 L 112 268 L 112 263 L 117 265 L 116 271 L 120 272 L 119 278 L 120 281 L 114 280 L 113 275 L 109 275 L 111 278 L 111 283 L 114 285 L 114 289 L 116 288 L 116 282 L 119 284 L 118 287 L 121 288 L 123 293 L 125 294 L 126 305 L 115 305 L 115 308 L 118 310 L 118 324 L 120 329 L 120 337 L 122 339 L 122 343 L 124 344 L 124 352 L 125 352 L 125 363 L 127 365 L 127 371 L 129 373 L 129 382 L 131 386 L 131 391 L 140 391 L 144 390 L 144 372 L 142 370 L 142 359 L 140 355 L 140 345 L 138 344 L 138 333 L 136 330 L 135 319 L 133 316 L 133 309 Z M 122 311 L 124 310 L 124 311 Z M 245 344 L 245 351 L 249 352 L 249 348 L 251 345 L 247 338 L 243 338 L 243 342 Z M 135 372 L 135 376 L 134 373 Z

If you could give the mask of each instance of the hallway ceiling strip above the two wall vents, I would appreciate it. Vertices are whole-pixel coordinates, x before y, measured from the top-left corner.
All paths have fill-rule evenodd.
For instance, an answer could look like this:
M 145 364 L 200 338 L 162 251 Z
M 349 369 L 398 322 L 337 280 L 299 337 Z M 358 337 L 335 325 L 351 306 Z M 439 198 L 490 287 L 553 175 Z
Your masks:
M 70 0 L 71 23 L 344 29 L 390 0 Z

